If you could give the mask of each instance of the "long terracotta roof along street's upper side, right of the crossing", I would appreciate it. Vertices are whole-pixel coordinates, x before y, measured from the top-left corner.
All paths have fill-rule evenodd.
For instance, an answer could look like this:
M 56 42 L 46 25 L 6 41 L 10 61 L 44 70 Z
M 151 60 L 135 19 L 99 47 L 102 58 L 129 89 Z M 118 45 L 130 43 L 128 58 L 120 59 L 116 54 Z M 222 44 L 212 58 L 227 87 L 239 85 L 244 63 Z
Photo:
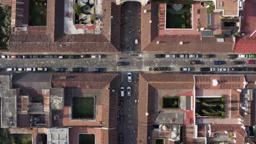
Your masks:
M 201 41 L 202 39 L 202 41 Z M 156 42 L 159 41 L 159 44 Z M 183 44 L 179 44 L 183 41 Z M 156 37 L 143 51 L 173 51 L 173 52 L 232 52 L 234 41 L 225 38 L 223 43 L 213 37 L 166 35 Z

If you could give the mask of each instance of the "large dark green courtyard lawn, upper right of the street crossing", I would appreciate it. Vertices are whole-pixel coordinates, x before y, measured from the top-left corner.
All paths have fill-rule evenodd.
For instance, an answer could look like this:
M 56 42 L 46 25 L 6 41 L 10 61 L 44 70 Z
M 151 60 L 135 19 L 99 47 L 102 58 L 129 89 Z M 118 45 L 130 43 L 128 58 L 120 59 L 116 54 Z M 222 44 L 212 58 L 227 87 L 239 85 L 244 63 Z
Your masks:
M 166 28 L 192 28 L 191 5 L 166 5 Z

